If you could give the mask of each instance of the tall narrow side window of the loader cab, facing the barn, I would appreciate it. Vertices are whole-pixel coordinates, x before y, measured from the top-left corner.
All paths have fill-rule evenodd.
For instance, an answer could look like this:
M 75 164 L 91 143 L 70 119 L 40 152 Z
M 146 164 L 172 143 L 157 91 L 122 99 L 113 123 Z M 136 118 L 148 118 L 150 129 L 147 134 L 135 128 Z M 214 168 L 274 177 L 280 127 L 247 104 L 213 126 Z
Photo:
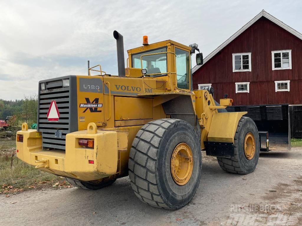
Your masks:
M 190 89 L 189 52 L 175 48 L 177 87 Z

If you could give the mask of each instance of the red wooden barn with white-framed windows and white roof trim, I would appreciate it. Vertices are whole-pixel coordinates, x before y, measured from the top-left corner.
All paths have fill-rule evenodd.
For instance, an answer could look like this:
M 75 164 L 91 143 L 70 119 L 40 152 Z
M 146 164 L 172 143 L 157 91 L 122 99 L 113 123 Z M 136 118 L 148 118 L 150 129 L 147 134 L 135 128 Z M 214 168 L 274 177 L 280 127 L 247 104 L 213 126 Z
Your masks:
M 302 34 L 262 10 L 193 69 L 233 105 L 302 104 Z

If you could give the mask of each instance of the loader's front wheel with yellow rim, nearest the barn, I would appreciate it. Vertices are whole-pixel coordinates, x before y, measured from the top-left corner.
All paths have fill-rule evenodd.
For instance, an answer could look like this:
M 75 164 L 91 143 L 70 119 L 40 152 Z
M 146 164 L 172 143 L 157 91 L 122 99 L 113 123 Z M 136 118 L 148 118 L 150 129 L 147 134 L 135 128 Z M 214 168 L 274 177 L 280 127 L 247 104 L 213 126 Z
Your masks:
M 260 143 L 255 122 L 248 117 L 241 117 L 234 137 L 235 157 L 217 157 L 220 167 L 227 172 L 249 174 L 258 164 Z

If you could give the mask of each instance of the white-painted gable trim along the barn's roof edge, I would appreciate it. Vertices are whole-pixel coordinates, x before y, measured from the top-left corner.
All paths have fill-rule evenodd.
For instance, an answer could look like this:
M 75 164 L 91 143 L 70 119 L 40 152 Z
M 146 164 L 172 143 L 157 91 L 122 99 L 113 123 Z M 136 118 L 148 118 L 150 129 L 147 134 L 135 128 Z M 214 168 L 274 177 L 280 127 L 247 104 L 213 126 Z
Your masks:
M 210 60 L 214 55 L 216 55 L 220 50 L 222 50 L 227 44 L 232 42 L 237 36 L 239 36 L 241 33 L 243 33 L 247 28 L 249 28 L 252 24 L 254 24 L 257 20 L 259 20 L 261 17 L 265 17 L 268 20 L 271 20 L 275 24 L 279 25 L 283 29 L 287 30 L 288 32 L 292 33 L 294 36 L 297 36 L 299 39 L 302 39 L 302 34 L 294 30 L 293 28 L 289 27 L 288 25 L 284 24 L 281 20 L 278 20 L 276 17 L 273 17 L 268 12 L 264 11 L 264 9 L 257 14 L 252 20 L 250 20 L 246 25 L 244 25 L 240 30 L 238 30 L 235 34 L 233 34 L 229 39 L 227 39 L 225 42 L 223 42 L 220 46 L 218 46 L 217 49 L 215 49 L 213 52 L 211 52 L 209 55 L 207 55 L 204 58 L 204 64 Z M 198 70 L 202 65 L 195 65 L 192 68 L 192 73 Z

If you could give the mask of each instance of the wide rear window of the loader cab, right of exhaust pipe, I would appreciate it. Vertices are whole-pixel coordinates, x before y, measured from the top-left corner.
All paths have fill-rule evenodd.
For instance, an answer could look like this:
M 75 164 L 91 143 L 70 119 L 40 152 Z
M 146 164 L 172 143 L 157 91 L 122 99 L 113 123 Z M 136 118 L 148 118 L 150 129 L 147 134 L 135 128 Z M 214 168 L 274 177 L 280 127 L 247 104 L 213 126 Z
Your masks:
M 150 54 L 150 53 L 160 53 L 166 52 L 166 48 L 151 50 L 148 52 L 137 53 L 132 55 L 132 67 L 141 68 L 140 57 L 141 55 Z M 156 74 L 156 73 L 167 73 L 167 54 L 156 54 L 143 56 L 142 58 L 143 68 L 147 69 L 147 74 Z

